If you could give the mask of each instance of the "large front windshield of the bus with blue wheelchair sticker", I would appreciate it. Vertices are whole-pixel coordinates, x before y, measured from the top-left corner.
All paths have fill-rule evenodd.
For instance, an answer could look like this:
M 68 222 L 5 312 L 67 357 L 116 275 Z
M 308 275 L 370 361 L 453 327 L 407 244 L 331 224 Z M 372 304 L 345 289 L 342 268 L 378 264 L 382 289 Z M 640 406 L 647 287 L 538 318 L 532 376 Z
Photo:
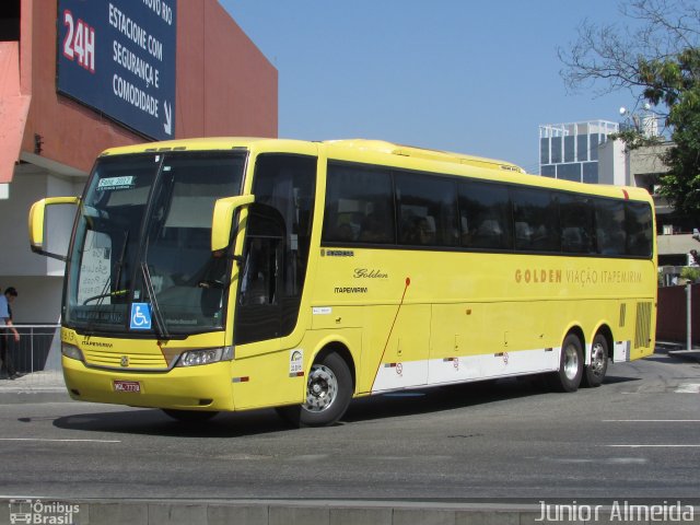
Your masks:
M 211 252 L 211 220 L 217 199 L 241 194 L 244 165 L 230 152 L 100 159 L 69 254 L 65 325 L 160 338 L 222 329 L 230 267 Z

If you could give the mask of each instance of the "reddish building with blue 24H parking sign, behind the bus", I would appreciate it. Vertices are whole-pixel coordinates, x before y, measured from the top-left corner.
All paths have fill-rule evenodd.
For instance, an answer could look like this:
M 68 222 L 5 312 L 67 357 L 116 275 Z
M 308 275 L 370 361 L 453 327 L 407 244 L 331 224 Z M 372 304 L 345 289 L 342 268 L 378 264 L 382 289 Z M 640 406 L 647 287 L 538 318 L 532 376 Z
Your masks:
M 97 14 L 81 14 L 86 4 Z M 166 37 L 152 36 L 156 25 Z M 80 77 L 84 72 L 75 63 L 92 75 Z M 91 85 L 103 65 L 109 69 L 106 88 Z M 124 86 L 131 90 L 133 107 L 127 109 L 137 114 L 135 93 L 150 97 L 155 89 L 153 101 L 170 97 L 151 112 L 167 117 L 165 126 L 172 114 L 170 136 L 150 132 L 122 112 L 129 96 Z M 20 291 L 15 320 L 54 323 L 60 315 L 63 265 L 30 252 L 32 202 L 79 195 L 95 156 L 109 147 L 163 138 L 277 137 L 277 89 L 276 68 L 215 0 L 3 0 L 0 288 Z M 49 245 L 68 242 L 73 211 L 51 220 Z

